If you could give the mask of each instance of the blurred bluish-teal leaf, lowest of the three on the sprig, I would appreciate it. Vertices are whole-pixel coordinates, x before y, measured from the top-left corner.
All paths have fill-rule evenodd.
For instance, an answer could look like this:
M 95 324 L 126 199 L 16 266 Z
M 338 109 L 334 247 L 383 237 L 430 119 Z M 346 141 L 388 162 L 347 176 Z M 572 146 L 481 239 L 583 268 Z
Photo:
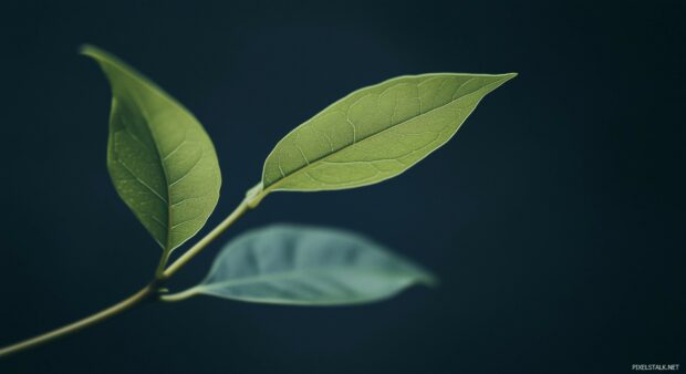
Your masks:
M 202 293 L 262 303 L 341 305 L 433 282 L 419 267 L 357 235 L 280 225 L 235 239 L 207 279 L 176 299 Z

